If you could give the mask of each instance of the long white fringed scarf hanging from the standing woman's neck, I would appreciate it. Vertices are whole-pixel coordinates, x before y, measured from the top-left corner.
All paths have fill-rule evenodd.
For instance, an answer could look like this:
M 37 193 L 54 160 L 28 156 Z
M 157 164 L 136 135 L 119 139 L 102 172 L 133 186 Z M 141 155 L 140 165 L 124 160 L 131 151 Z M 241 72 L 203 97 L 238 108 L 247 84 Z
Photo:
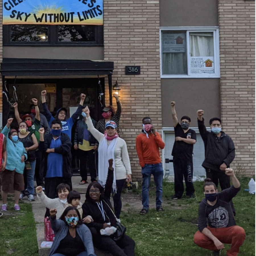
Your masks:
M 99 144 L 98 148 L 98 159 L 99 159 L 99 183 L 102 185 L 102 187 L 105 187 L 107 177 L 108 177 L 108 168 L 109 168 L 109 159 L 113 159 L 113 167 L 114 167 L 114 180 L 113 180 L 113 185 L 112 188 L 114 192 L 116 192 L 116 181 L 115 181 L 115 155 L 114 155 L 114 150 L 115 146 L 117 143 L 117 139 L 115 138 L 111 141 L 111 143 L 108 145 L 108 140 L 106 138 L 107 136 L 105 135 L 105 138 L 102 140 L 102 142 Z

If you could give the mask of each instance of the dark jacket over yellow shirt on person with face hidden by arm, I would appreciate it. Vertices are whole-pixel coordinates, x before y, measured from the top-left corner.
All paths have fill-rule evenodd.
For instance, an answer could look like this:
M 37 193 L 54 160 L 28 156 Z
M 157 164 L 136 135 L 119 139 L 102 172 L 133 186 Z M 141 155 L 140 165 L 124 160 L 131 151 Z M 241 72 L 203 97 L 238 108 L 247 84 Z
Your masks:
M 96 128 L 97 122 L 94 119 L 92 119 L 92 124 Z M 80 115 L 80 118 L 77 122 L 76 131 L 75 131 L 74 144 L 81 144 L 81 145 L 83 144 L 84 129 L 88 129 L 88 126 L 85 123 L 82 115 Z M 89 131 L 89 143 L 90 143 L 90 146 L 95 146 L 99 144 L 98 141 L 90 133 L 90 131 Z

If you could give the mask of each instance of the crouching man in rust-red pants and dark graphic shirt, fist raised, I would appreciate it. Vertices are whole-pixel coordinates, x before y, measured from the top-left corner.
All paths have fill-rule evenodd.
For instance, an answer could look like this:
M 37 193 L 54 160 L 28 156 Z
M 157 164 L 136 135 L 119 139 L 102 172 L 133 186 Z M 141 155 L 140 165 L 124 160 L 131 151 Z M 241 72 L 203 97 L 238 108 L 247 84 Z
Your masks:
M 220 193 L 210 178 L 205 179 L 205 199 L 201 201 L 198 211 L 199 231 L 194 236 L 195 244 L 213 251 L 213 256 L 220 255 L 224 243 L 231 243 L 227 256 L 236 256 L 245 240 L 245 231 L 236 225 L 230 204 L 232 198 L 240 191 L 240 182 L 233 169 L 226 168 L 225 173 L 231 178 L 233 185 Z

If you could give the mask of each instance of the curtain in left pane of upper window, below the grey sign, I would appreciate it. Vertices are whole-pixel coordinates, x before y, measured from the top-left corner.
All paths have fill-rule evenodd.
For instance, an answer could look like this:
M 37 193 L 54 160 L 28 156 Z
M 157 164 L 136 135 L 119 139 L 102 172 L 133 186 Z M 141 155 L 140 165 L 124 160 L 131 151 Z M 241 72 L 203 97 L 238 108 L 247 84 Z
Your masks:
M 187 75 L 187 53 L 172 52 L 163 53 L 163 75 Z

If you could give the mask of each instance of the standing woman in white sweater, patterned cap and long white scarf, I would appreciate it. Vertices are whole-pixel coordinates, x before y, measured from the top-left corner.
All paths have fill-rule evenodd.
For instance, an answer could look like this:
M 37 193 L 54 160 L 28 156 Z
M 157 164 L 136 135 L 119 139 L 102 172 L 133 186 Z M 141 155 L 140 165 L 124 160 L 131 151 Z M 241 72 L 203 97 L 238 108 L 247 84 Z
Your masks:
M 105 133 L 102 134 L 96 130 L 92 124 L 90 118 L 90 110 L 88 106 L 84 109 L 84 114 L 86 115 L 86 124 L 90 133 L 99 142 L 98 148 L 98 158 L 99 158 L 99 174 L 98 181 L 104 187 L 106 184 L 108 176 L 109 159 L 113 159 L 114 166 L 114 181 L 113 181 L 113 191 L 116 194 L 113 196 L 115 215 L 119 219 L 122 200 L 121 193 L 125 181 L 128 183 L 131 181 L 131 164 L 129 159 L 129 154 L 127 150 L 127 145 L 125 141 L 119 138 L 117 133 L 117 125 L 114 121 L 108 121 L 105 125 Z

